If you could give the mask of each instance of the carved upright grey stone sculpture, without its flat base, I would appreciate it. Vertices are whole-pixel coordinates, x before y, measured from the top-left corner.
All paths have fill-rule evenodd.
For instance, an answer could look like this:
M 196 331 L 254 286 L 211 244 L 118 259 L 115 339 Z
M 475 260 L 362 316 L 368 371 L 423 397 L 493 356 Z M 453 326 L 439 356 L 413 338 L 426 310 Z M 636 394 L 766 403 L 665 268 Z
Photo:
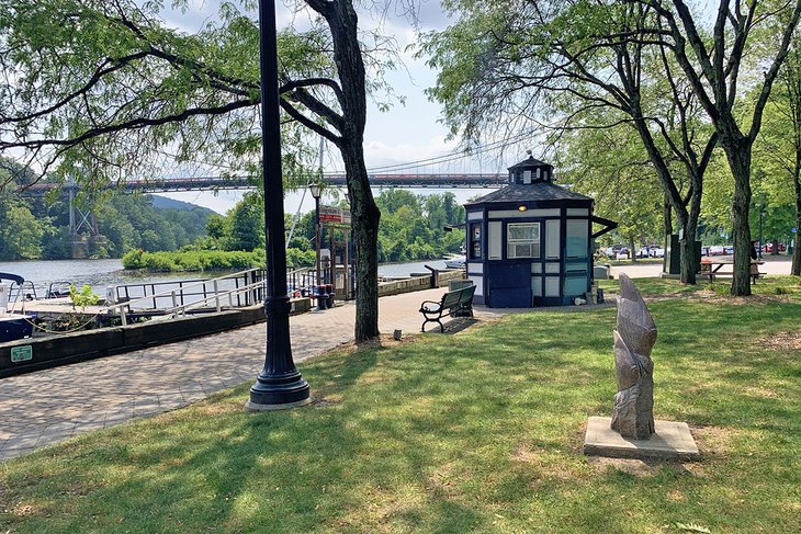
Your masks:
M 620 275 L 614 371 L 618 394 L 611 427 L 623 438 L 647 440 L 654 433 L 654 363 L 656 323 L 628 275 Z

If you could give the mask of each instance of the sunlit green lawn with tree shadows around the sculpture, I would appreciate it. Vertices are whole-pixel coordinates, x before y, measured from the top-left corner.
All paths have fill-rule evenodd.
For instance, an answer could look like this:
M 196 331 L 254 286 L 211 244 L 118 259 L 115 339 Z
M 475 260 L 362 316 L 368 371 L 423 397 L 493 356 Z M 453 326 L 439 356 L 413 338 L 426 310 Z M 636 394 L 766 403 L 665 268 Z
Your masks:
M 247 384 L 0 463 L 0 533 L 801 532 L 798 279 L 635 283 L 698 462 L 585 457 L 616 311 L 532 313 L 315 359 L 311 407 L 246 413 Z

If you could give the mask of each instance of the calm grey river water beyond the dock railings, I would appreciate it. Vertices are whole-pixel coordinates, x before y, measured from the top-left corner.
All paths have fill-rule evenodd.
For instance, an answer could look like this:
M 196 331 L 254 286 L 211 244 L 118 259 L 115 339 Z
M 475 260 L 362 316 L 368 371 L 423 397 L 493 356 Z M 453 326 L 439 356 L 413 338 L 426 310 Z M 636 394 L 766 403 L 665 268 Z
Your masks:
M 428 273 L 426 265 L 444 269 L 443 260 L 379 265 L 380 276 L 408 276 L 410 273 Z M 16 274 L 34 283 L 36 295 L 44 297 L 53 283 L 67 282 L 81 287 L 90 285 L 99 295 L 105 295 L 110 285 L 170 282 L 178 280 L 210 279 L 217 273 L 139 273 L 123 270 L 120 260 L 58 260 L 0 262 L 0 272 Z

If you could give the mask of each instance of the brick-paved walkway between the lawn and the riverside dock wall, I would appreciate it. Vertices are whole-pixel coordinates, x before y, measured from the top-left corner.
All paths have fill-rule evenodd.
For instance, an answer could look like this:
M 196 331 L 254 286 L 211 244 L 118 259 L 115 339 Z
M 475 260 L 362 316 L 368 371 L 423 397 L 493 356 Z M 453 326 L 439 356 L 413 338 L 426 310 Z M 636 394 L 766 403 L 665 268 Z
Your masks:
M 445 289 L 380 299 L 383 333 L 418 332 L 420 303 Z M 478 307 L 476 317 L 512 310 Z M 290 320 L 292 354 L 302 362 L 353 339 L 356 306 L 345 303 Z M 436 329 L 429 323 L 428 330 Z M 190 341 L 0 379 L 0 459 L 71 435 L 185 406 L 255 382 L 264 363 L 263 323 Z M 303 368 L 301 367 L 301 372 Z M 312 385 L 314 387 L 314 385 Z

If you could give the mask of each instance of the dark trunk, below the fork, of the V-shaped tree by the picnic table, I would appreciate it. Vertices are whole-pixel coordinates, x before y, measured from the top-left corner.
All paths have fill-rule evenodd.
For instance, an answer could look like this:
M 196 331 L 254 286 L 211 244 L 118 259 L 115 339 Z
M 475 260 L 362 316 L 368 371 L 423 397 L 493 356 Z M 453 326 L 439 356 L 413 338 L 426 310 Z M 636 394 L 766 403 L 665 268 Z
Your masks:
M 721 146 L 726 152 L 729 167 L 734 175 L 734 200 L 732 202 L 732 236 L 734 237 L 734 277 L 731 294 L 751 295 L 751 143 L 721 136 Z

